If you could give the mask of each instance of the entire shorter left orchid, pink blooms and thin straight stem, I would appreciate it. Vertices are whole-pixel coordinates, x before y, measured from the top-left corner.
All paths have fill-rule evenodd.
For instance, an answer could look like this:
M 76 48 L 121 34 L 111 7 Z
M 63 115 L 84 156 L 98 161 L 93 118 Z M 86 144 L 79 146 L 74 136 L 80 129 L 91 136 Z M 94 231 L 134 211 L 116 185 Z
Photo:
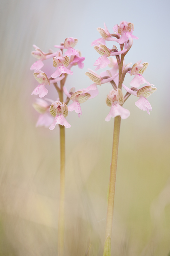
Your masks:
M 89 98 L 93 98 L 98 94 L 96 86 L 88 86 L 87 88 L 79 89 L 75 91 L 75 87 L 72 87 L 69 91 L 65 87 L 65 82 L 68 74 L 73 74 L 71 68 L 78 65 L 79 68 L 84 67 L 85 57 L 81 57 L 80 51 L 76 51 L 73 47 L 77 44 L 78 39 L 66 38 L 64 44 L 55 45 L 59 48 L 57 52 L 49 50 L 48 53 L 44 53 L 36 45 L 33 45 L 35 51 L 32 55 L 38 60 L 31 66 L 31 70 L 34 70 L 34 77 L 39 82 L 39 85 L 33 90 L 32 95 L 39 95 L 33 107 L 40 113 L 36 126 L 49 127 L 53 130 L 56 125 L 60 128 L 60 202 L 58 206 L 58 248 L 57 255 L 64 256 L 64 202 L 65 202 L 65 128 L 70 128 L 71 125 L 67 122 L 66 117 L 69 111 L 75 111 L 78 116 L 82 114 L 80 103 L 87 101 Z M 66 49 L 65 55 L 63 51 Z M 70 58 L 69 58 L 70 56 Z M 55 67 L 56 71 L 48 77 L 46 73 L 40 70 L 46 59 L 53 58 L 51 61 L 51 67 Z M 49 67 L 50 68 L 50 67 Z M 43 98 L 48 94 L 46 88 L 47 85 L 53 84 L 57 94 L 56 101 L 52 99 Z M 72 100 L 72 104 L 69 106 L 69 101 Z

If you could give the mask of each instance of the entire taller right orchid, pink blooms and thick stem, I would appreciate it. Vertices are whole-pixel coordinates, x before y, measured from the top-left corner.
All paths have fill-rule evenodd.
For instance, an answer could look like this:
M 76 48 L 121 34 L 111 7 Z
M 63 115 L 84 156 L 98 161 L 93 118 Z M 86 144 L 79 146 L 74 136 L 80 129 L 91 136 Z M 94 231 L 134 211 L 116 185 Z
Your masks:
M 139 97 L 139 100 L 135 103 L 141 110 L 146 110 L 150 114 L 149 110 L 152 107 L 149 101 L 146 99 L 150 96 L 156 89 L 152 84 L 146 81 L 142 74 L 148 67 L 148 63 L 144 62 L 140 64 L 141 61 L 136 62 L 132 68 L 129 66 L 132 63 L 125 65 L 124 57 L 129 52 L 133 45 L 133 39 L 138 39 L 133 35 L 134 25 L 133 23 L 127 23 L 122 21 L 120 25 L 115 25 L 113 27 L 114 33 L 111 34 L 106 25 L 103 28 L 97 28 L 102 38 L 99 38 L 92 42 L 91 45 L 95 46 L 95 50 L 101 55 L 94 66 L 95 70 L 100 68 L 109 67 L 110 70 L 106 70 L 100 74 L 100 76 L 94 71 L 86 72 L 86 75 L 95 84 L 102 84 L 103 79 L 107 79 L 112 85 L 112 90 L 106 97 L 106 104 L 111 107 L 109 114 L 106 116 L 105 120 L 108 122 L 111 117 L 114 120 L 114 132 L 113 132 L 113 147 L 112 147 L 112 160 L 110 168 L 109 177 L 109 190 L 108 190 L 108 203 L 107 203 L 107 218 L 106 218 L 106 232 L 105 232 L 105 242 L 104 242 L 104 252 L 103 256 L 111 256 L 111 237 L 112 237 L 112 226 L 113 226 L 113 214 L 114 214 L 114 198 L 115 198 L 115 185 L 116 185 L 116 171 L 117 171 L 117 160 L 118 160 L 118 146 L 119 146 L 119 134 L 120 134 L 120 123 L 121 119 L 126 119 L 129 117 L 130 112 L 122 107 L 123 103 L 130 97 L 131 94 Z M 106 41 L 117 42 L 120 46 L 120 51 L 117 49 L 116 45 L 113 45 L 112 49 L 106 46 Z M 115 56 L 116 59 L 108 57 Z M 118 70 L 118 73 L 117 73 Z M 126 87 L 123 84 L 126 73 L 134 75 L 134 79 L 131 81 L 131 88 Z M 101 81 L 98 78 L 101 77 Z M 112 79 L 111 79 L 112 77 Z M 110 79 L 110 80 L 109 80 Z M 141 84 L 147 84 L 140 89 L 138 87 Z M 123 96 L 122 87 L 127 91 L 125 96 Z

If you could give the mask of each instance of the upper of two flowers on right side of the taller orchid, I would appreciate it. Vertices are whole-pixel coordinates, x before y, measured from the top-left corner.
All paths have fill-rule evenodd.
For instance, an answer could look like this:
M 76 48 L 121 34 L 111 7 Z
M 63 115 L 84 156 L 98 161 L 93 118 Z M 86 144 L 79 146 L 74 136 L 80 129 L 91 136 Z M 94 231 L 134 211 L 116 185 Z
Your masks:
M 145 78 L 142 76 L 143 72 L 145 72 L 145 70 L 148 67 L 148 62 L 143 62 L 142 64 L 140 64 L 141 60 L 137 61 L 133 67 L 131 71 L 128 71 L 128 73 L 131 73 L 131 75 L 135 75 L 134 79 L 130 82 L 130 85 L 132 87 L 136 87 L 138 88 L 141 84 L 150 84 L 147 80 L 145 80 Z

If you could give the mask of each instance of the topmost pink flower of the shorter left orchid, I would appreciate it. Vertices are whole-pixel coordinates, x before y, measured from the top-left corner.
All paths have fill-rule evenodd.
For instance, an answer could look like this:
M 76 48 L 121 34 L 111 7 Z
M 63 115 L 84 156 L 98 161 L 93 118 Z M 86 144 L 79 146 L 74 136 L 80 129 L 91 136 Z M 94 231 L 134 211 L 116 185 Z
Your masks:
M 67 51 L 65 52 L 65 55 L 67 56 L 71 56 L 71 55 L 79 56 L 79 53 L 75 51 L 75 49 L 73 48 L 77 43 L 78 43 L 77 38 L 69 37 L 65 39 L 64 45 L 54 45 L 54 47 L 60 48 L 60 49 L 67 49 Z

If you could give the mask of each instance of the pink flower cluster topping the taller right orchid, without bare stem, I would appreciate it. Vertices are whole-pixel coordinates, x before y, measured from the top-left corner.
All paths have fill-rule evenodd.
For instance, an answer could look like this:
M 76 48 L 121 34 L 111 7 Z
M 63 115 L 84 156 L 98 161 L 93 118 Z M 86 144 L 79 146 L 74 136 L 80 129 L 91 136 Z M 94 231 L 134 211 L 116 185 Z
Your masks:
M 149 101 L 146 99 L 149 97 L 156 89 L 153 84 L 150 84 L 143 76 L 143 72 L 147 69 L 148 63 L 137 61 L 132 68 L 129 66 L 132 63 L 125 65 L 124 56 L 129 52 L 130 48 L 133 45 L 133 39 L 138 39 L 133 35 L 134 25 L 131 22 L 122 21 L 120 25 L 115 25 L 113 27 L 113 32 L 110 33 L 104 24 L 104 28 L 97 28 L 102 38 L 99 38 L 91 43 L 94 46 L 94 49 L 101 55 L 95 63 L 95 70 L 99 70 L 105 67 L 109 67 L 100 75 L 95 73 L 92 70 L 86 72 L 85 74 L 94 82 L 92 85 L 101 85 L 106 82 L 110 82 L 113 89 L 109 92 L 106 98 L 106 104 L 111 107 L 109 114 L 106 116 L 105 120 L 111 120 L 111 117 L 121 116 L 122 119 L 128 118 L 130 115 L 129 110 L 122 107 L 123 103 L 129 98 L 132 94 L 139 97 L 135 105 L 143 110 L 147 111 L 150 114 L 149 110 L 152 110 L 152 107 Z M 120 46 L 120 51 L 113 45 L 112 49 L 106 46 L 106 41 L 117 42 Z M 114 59 L 111 56 L 115 56 Z M 119 70 L 119 73 L 118 73 Z M 133 80 L 130 82 L 131 88 L 123 85 L 123 81 L 126 73 L 134 75 Z M 140 89 L 140 85 L 144 85 Z M 123 96 L 122 87 L 127 91 L 126 95 Z

